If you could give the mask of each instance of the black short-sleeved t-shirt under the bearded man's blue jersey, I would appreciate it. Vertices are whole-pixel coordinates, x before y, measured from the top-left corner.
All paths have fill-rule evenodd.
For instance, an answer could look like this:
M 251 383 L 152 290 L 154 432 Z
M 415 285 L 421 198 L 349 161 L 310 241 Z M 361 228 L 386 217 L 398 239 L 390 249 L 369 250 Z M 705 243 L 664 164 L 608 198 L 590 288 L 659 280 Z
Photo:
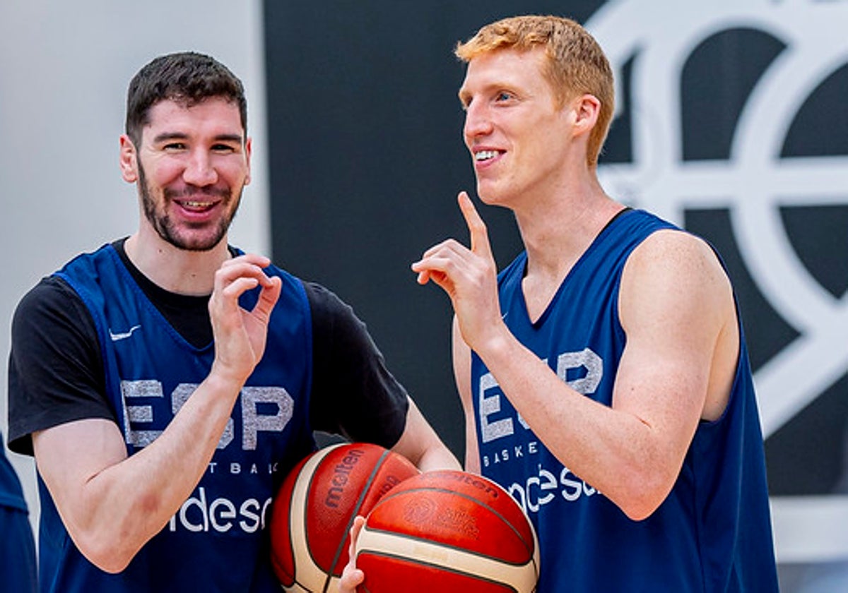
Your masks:
M 189 343 L 212 339 L 209 296 L 186 296 L 153 284 L 113 243 L 159 312 Z M 406 391 L 386 368 L 365 324 L 332 291 L 303 282 L 310 304 L 314 430 L 391 447 L 406 422 Z M 97 330 L 76 292 L 57 276 L 42 279 L 15 310 L 8 364 L 8 446 L 32 454 L 31 434 L 82 418 L 116 420 L 105 396 Z

